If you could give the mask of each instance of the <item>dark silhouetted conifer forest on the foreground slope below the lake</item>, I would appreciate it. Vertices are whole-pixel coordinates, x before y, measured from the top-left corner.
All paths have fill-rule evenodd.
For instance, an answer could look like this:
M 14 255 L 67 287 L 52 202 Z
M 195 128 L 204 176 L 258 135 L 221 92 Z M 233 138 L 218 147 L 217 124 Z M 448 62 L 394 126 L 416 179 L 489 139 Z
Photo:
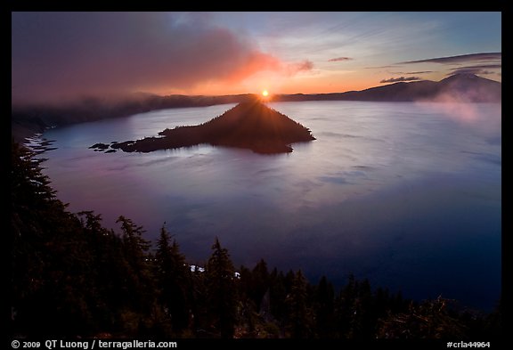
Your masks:
M 12 142 L 12 336 L 201 338 L 457 338 L 501 336 L 489 315 L 448 300 L 422 303 L 349 275 L 338 291 L 264 260 L 235 270 L 216 239 L 205 270 L 191 268 L 165 226 L 153 248 L 119 216 L 69 213 L 30 152 Z M 193 270 L 193 271 L 192 271 Z

